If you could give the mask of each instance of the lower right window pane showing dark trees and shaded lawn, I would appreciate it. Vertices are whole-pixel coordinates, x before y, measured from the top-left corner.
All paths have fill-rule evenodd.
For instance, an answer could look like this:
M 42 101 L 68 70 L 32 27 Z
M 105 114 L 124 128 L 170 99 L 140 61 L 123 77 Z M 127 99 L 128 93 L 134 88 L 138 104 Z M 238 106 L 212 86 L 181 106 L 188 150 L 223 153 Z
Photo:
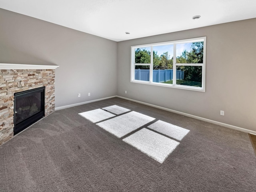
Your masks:
M 202 87 L 202 66 L 177 66 L 176 84 Z

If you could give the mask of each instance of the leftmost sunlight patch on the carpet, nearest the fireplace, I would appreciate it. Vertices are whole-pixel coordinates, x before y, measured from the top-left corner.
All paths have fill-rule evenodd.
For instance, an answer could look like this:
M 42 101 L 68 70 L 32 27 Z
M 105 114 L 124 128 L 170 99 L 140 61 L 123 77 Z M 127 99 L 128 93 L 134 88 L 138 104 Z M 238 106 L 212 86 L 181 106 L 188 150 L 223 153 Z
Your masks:
M 115 116 L 114 114 L 111 114 L 102 109 L 95 109 L 95 110 L 91 110 L 91 111 L 82 112 L 82 113 L 79 113 L 79 115 L 90 120 L 93 123 Z

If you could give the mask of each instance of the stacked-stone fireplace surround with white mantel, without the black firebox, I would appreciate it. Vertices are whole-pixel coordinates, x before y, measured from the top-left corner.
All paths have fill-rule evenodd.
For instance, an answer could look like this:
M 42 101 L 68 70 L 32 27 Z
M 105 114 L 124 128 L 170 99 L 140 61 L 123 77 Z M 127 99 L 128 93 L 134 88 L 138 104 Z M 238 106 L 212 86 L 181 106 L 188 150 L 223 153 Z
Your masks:
M 0 64 L 0 145 L 14 136 L 14 94 L 45 87 L 43 116 L 54 112 L 54 78 L 57 67 Z

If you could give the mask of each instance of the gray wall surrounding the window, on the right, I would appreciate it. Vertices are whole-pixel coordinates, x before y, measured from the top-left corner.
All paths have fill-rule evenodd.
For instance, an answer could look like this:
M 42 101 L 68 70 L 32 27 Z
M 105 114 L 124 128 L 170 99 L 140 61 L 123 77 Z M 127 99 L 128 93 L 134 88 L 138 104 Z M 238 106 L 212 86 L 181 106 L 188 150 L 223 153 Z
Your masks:
M 118 42 L 118 95 L 256 131 L 255 32 L 256 18 Z M 201 36 L 206 92 L 130 82 L 130 46 Z

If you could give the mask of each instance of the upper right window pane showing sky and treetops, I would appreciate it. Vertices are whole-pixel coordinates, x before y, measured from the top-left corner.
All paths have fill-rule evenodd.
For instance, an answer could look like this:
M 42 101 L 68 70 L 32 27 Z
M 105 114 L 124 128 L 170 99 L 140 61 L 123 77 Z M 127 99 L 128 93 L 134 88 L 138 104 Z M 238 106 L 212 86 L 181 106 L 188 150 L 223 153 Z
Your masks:
M 176 44 L 176 63 L 203 63 L 204 42 Z

